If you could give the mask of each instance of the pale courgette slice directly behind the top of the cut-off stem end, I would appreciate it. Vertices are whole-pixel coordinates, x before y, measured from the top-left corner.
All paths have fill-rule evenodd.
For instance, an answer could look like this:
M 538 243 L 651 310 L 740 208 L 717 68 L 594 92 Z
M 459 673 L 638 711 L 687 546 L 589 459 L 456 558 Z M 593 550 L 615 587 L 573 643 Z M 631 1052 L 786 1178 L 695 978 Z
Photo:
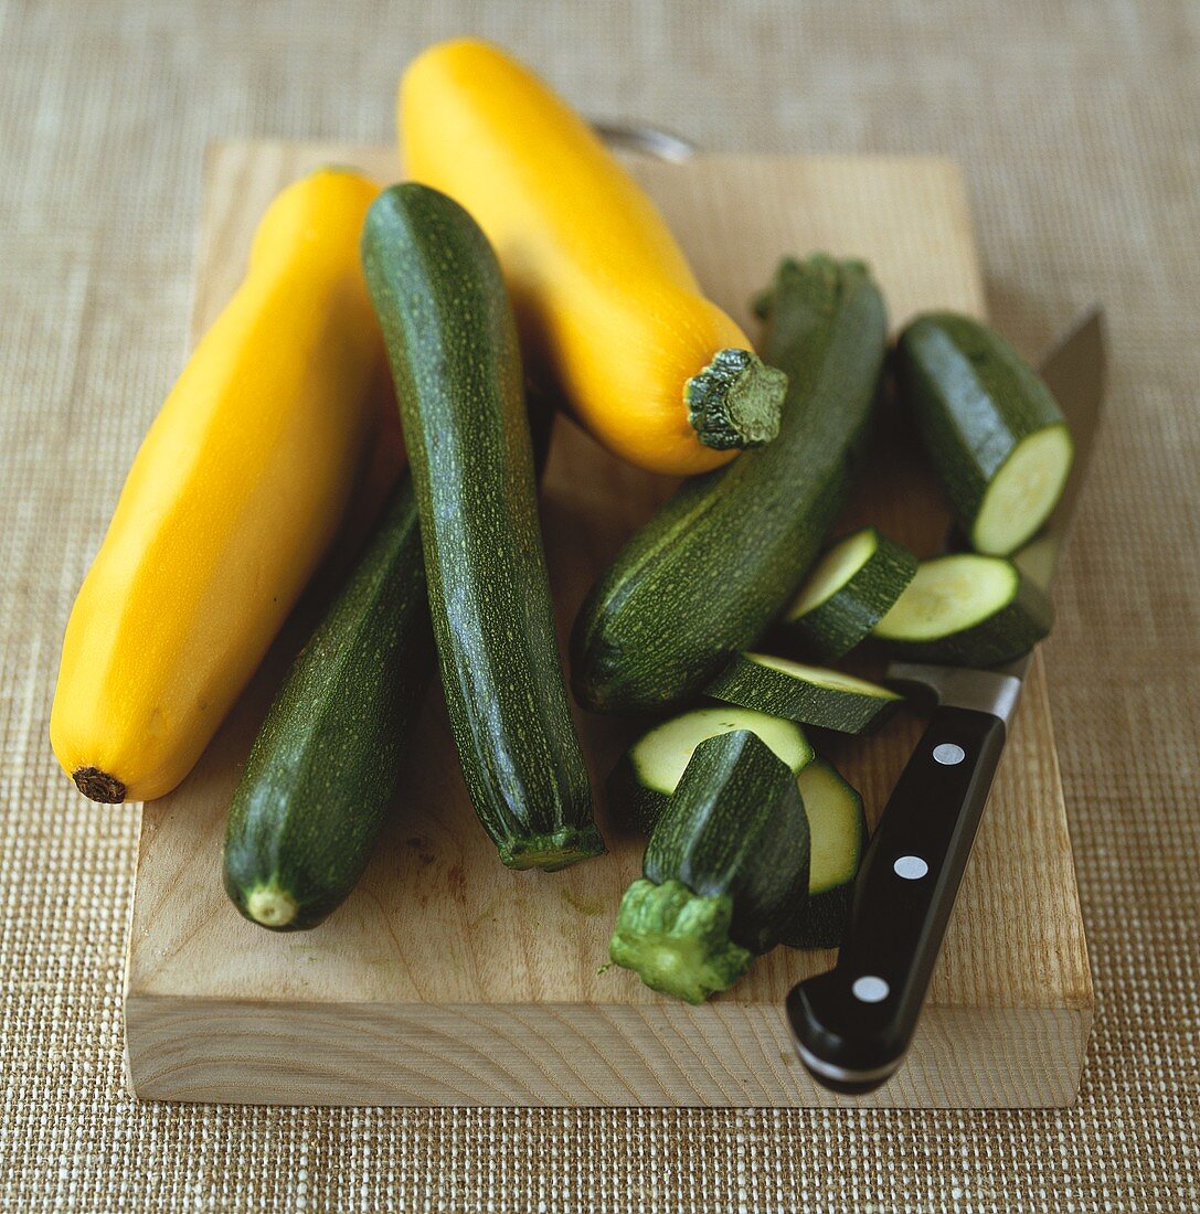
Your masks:
M 644 733 L 609 777 L 609 805 L 649 834 L 679 787 L 692 753 L 706 738 L 749 730 L 793 772 L 814 759 L 804 731 L 792 721 L 732 707 L 697 708 Z

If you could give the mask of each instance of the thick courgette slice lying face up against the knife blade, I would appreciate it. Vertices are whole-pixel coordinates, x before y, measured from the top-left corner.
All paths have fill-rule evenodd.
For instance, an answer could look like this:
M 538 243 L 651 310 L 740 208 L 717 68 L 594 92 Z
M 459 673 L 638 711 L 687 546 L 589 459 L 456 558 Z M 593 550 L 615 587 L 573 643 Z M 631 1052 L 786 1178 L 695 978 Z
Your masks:
M 1012 561 L 961 552 L 922 562 L 874 636 L 896 657 L 990 666 L 1028 653 L 1053 622 L 1046 591 Z

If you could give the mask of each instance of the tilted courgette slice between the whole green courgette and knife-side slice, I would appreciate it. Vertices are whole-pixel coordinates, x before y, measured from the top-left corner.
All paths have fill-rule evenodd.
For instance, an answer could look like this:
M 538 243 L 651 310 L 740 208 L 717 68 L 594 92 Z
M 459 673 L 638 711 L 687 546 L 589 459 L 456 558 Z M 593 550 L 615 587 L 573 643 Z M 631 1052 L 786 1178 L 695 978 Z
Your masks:
M 783 625 L 815 657 L 844 657 L 912 582 L 917 558 L 874 527 L 847 535 L 817 562 Z

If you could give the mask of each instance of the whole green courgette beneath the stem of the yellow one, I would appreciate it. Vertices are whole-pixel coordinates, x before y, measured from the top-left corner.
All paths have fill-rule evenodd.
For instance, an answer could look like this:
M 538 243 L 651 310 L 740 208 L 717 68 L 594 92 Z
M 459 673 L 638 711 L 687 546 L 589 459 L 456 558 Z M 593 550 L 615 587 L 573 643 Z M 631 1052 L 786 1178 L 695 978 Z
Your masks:
M 788 378 L 779 436 L 684 482 L 601 575 L 572 637 L 583 704 L 678 704 L 785 607 L 845 500 L 885 341 L 861 262 L 781 263 L 763 344 Z

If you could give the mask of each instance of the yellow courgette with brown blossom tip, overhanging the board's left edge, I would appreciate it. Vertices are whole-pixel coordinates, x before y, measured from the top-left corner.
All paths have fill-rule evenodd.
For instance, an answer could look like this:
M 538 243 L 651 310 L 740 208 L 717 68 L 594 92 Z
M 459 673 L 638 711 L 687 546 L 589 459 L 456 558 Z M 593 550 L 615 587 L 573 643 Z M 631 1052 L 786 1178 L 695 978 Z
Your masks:
M 276 198 L 134 460 L 67 625 L 50 721 L 94 800 L 179 784 L 338 529 L 386 382 L 358 261 L 378 193 L 322 169 Z

